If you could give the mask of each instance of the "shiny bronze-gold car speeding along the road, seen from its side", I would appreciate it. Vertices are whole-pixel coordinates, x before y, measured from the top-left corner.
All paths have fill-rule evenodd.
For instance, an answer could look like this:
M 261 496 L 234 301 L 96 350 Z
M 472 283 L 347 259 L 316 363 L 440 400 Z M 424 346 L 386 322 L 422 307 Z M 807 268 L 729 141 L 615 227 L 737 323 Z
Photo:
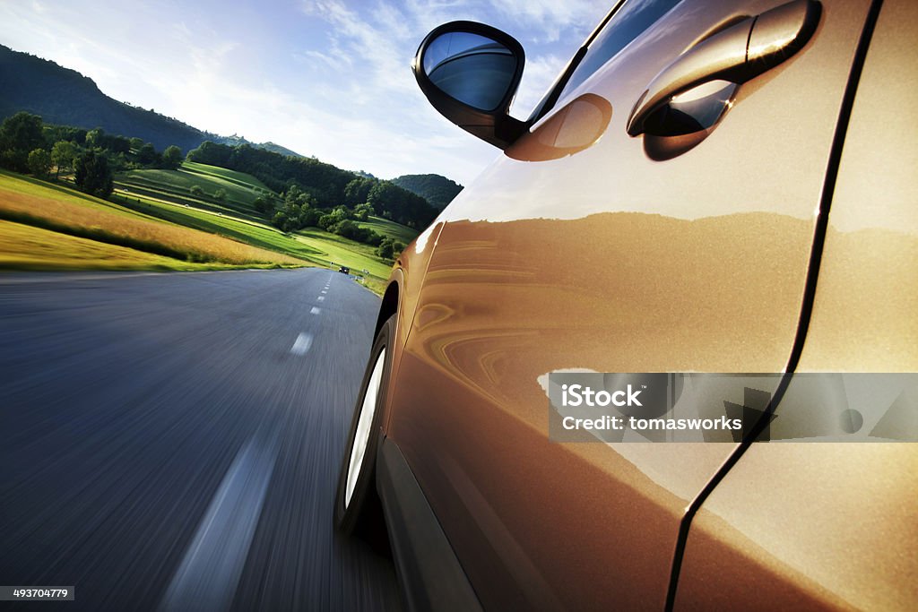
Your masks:
M 792 373 L 918 371 L 915 23 L 623 0 L 525 121 L 517 41 L 423 41 L 503 154 L 398 259 L 341 468 L 409 607 L 918 607 L 913 395 L 900 443 L 564 443 L 546 411 L 556 373 L 777 373 L 765 418 Z

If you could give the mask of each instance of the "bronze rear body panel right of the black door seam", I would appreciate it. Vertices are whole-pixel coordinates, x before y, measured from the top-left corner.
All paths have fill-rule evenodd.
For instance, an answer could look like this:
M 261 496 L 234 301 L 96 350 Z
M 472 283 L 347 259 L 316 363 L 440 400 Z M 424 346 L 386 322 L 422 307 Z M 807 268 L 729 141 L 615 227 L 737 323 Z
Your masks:
M 884 0 L 798 372 L 918 372 L 915 23 L 914 2 Z M 791 384 L 778 418 L 794 400 Z M 753 445 L 692 523 L 676 608 L 915 609 L 916 492 L 913 443 Z

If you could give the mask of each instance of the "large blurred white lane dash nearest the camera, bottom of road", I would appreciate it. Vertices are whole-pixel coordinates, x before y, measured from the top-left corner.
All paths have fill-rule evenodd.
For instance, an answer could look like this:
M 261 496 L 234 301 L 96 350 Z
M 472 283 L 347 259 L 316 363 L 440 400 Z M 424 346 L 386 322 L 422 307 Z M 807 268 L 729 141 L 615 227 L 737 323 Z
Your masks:
M 249 440 L 229 466 L 162 599 L 162 610 L 229 609 L 277 458 L 276 437 L 258 438 Z

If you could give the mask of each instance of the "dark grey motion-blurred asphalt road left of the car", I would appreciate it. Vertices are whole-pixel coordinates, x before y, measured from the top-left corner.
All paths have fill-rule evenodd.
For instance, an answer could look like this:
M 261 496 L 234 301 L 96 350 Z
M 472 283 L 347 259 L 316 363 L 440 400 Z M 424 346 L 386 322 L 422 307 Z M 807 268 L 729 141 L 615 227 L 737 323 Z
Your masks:
M 0 585 L 398 609 L 391 560 L 331 525 L 378 306 L 325 270 L 0 276 Z

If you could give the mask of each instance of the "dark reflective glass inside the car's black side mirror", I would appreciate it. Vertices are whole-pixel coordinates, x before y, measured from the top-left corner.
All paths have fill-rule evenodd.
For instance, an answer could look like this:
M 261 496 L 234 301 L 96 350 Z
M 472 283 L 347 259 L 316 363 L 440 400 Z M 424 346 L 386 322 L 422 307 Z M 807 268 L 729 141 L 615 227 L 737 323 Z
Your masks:
M 478 110 L 494 110 L 507 95 L 517 58 L 497 40 L 470 32 L 448 32 L 431 40 L 423 68 L 443 93 Z

